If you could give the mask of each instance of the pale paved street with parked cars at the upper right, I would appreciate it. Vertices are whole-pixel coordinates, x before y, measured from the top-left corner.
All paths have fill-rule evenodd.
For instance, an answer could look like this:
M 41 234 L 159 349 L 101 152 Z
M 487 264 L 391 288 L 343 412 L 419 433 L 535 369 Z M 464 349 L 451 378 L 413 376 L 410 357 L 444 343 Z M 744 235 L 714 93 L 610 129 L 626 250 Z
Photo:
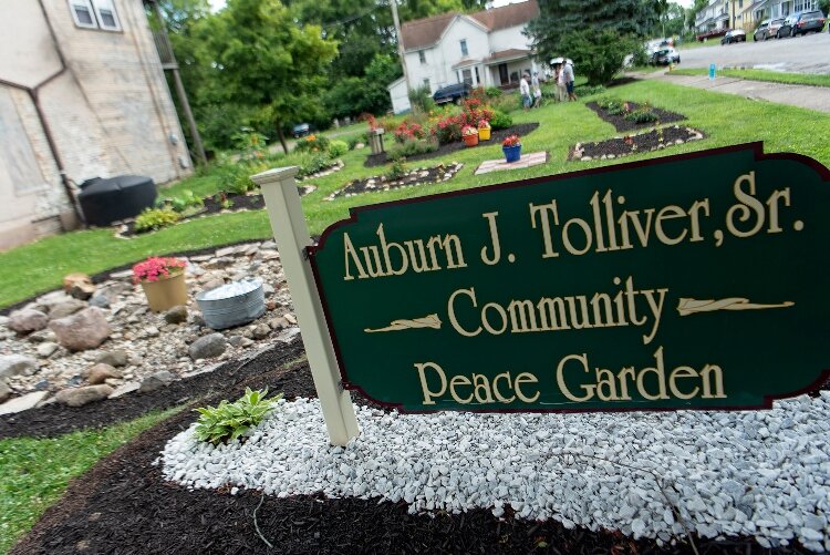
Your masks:
M 722 47 L 720 40 L 712 47 L 681 50 L 681 68 L 754 68 L 790 73 L 830 73 L 830 34 L 810 33 L 795 39 L 770 39 Z

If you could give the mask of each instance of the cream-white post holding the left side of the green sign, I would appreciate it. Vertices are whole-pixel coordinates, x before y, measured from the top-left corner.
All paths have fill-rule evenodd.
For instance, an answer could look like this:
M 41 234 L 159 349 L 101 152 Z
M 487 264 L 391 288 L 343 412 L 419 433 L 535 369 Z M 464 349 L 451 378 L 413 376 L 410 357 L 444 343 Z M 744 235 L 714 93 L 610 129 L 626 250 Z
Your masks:
M 340 381 L 320 296 L 305 256 L 311 238 L 294 183 L 298 169 L 297 166 L 269 169 L 252 175 L 251 181 L 262 188 L 329 439 L 333 445 L 345 445 L 360 434 L 360 429 L 352 397 Z

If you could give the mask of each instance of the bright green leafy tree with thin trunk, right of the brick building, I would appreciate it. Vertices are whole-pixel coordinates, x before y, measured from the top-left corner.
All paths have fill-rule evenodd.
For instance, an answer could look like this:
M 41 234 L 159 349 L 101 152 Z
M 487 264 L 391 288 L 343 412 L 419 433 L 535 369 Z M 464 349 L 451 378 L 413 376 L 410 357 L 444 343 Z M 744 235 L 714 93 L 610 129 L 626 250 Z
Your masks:
M 229 0 L 214 20 L 216 94 L 258 109 L 288 152 L 283 125 L 319 111 L 336 42 L 323 39 L 320 27 L 298 27 L 278 0 Z

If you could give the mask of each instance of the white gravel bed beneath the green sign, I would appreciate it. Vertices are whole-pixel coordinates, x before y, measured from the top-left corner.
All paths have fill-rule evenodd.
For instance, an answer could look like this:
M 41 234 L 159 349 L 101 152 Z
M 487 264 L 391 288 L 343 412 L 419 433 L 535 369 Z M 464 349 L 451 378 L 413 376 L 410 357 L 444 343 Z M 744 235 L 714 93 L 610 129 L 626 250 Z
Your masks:
M 280 401 L 241 444 L 197 442 L 190 426 L 163 451 L 164 474 L 189 487 L 228 484 L 231 493 L 405 500 L 413 513 L 485 507 L 501 516 L 510 504 L 521 518 L 658 543 L 685 527 L 830 551 L 827 391 L 758 412 L 355 409 L 362 433 L 345 449 L 329 445 L 315 399 Z

